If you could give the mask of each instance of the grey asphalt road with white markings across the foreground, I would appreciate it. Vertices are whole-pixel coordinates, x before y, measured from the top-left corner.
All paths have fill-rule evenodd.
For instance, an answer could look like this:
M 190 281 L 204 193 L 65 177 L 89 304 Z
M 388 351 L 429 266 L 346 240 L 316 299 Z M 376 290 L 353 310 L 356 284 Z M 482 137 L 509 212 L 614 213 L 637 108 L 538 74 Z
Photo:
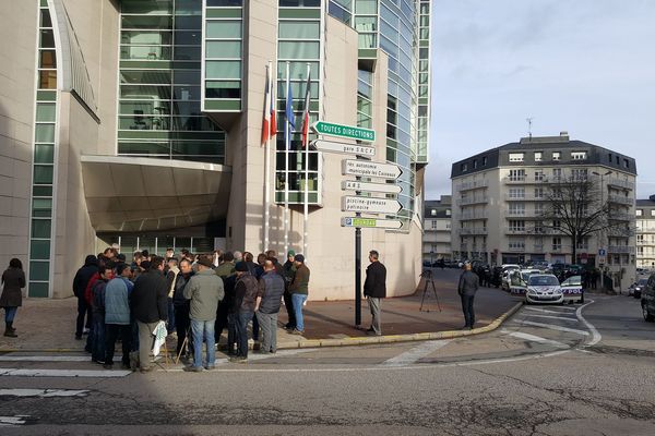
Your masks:
M 524 306 L 487 335 L 288 350 L 201 374 L 3 355 L 0 432 L 651 436 L 654 337 L 636 300 L 587 295 L 583 307 Z

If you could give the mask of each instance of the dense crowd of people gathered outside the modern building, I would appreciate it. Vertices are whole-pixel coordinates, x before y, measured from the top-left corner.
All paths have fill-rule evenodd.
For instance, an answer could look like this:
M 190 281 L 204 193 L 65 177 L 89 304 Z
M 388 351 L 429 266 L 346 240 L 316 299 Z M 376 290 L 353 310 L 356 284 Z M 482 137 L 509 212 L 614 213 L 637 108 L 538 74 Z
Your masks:
M 88 334 L 85 350 L 107 370 L 114 367 L 120 339 L 122 367 L 148 372 L 153 343 L 164 324 L 166 335 L 177 336 L 176 359 L 188 363 L 184 371 L 201 372 L 215 366 L 225 330 L 230 362 L 246 363 L 249 339 L 260 342 L 259 353 L 276 352 L 283 304 L 288 315 L 285 328 L 295 335 L 305 332 L 309 277 L 305 257 L 294 251 L 284 264 L 275 251 L 259 254 L 254 262 L 249 252 L 194 255 L 188 250 L 176 254 L 172 249 L 166 250 L 165 257 L 135 252 L 128 262 L 108 247 L 86 256 L 73 280 L 75 339 Z

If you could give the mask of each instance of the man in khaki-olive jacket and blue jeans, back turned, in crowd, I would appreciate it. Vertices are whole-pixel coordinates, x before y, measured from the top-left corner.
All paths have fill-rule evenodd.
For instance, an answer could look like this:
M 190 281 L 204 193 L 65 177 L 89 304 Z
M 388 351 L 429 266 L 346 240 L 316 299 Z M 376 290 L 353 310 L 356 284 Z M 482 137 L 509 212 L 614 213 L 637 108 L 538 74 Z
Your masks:
M 201 256 L 198 261 L 198 272 L 189 279 L 184 287 L 184 298 L 191 300 L 191 331 L 193 334 L 193 365 L 184 371 L 202 371 L 202 343 L 206 343 L 206 368 L 213 370 L 216 362 L 214 348 L 214 322 L 218 302 L 225 296 L 223 280 L 212 269 L 212 259 Z

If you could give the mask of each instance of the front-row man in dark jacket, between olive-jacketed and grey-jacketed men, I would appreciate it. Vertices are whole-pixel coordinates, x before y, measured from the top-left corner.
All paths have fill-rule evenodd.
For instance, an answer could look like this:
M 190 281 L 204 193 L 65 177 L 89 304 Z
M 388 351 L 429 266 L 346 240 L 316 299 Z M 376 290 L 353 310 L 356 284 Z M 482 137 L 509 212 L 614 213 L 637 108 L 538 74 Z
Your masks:
M 254 314 L 259 287 L 257 279 L 248 271 L 248 264 L 239 262 L 237 269 L 237 284 L 235 287 L 235 313 L 237 327 L 237 355 L 230 362 L 248 362 L 248 324 Z

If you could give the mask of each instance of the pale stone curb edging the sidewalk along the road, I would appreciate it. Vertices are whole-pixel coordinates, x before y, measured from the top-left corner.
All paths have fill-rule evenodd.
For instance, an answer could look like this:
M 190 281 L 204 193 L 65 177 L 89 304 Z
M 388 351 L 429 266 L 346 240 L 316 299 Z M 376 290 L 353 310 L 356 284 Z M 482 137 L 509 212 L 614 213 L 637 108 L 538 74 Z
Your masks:
M 473 330 L 445 330 L 445 331 L 432 331 L 422 334 L 410 334 L 410 335 L 388 335 L 379 337 L 356 337 L 356 338 L 344 338 L 344 339 L 303 339 L 298 341 L 296 344 L 290 343 L 278 343 L 278 350 L 296 350 L 303 348 L 329 348 L 329 347 L 354 347 L 354 346 L 371 346 L 379 343 L 395 343 L 395 342 L 416 342 L 434 339 L 454 339 L 463 338 L 466 336 L 481 335 L 489 331 L 496 330 L 504 323 L 507 318 L 514 315 L 523 303 L 516 303 L 509 311 L 493 319 L 490 324 L 485 327 L 474 328 Z M 250 348 L 250 347 L 249 347 Z M 80 352 L 79 349 L 68 348 L 52 348 L 52 349 L 0 349 L 0 353 L 75 353 Z M 175 352 L 169 352 L 175 354 Z

